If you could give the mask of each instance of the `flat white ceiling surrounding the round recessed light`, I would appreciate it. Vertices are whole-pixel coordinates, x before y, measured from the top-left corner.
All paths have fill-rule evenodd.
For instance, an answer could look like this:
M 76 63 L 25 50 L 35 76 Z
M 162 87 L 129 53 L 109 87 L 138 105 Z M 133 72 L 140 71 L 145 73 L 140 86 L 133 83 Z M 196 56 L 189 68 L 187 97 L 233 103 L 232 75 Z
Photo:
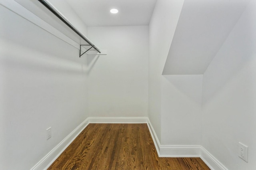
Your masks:
M 156 0 L 66 0 L 87 26 L 145 26 Z M 118 9 L 111 14 L 110 9 Z

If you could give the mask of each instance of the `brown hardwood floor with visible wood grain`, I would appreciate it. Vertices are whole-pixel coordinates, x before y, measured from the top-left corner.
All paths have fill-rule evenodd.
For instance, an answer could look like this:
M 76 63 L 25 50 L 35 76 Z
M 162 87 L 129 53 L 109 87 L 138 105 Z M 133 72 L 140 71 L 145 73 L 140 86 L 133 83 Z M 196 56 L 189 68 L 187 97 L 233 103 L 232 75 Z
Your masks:
M 89 124 L 48 170 L 210 170 L 200 158 L 159 158 L 146 124 Z

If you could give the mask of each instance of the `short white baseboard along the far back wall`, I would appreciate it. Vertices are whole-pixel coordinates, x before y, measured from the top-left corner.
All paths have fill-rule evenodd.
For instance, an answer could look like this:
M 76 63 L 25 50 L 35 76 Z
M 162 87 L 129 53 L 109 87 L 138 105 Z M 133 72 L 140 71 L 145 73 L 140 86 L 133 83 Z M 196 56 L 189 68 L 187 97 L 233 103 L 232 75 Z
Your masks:
M 90 123 L 148 123 L 148 117 L 90 117 Z

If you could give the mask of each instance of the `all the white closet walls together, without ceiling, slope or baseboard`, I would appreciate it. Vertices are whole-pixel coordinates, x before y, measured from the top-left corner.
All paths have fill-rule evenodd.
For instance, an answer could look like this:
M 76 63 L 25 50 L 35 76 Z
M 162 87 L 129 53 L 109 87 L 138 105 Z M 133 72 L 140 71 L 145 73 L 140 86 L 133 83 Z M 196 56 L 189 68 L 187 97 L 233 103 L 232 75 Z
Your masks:
M 183 2 L 158 0 L 150 26 L 88 28 L 108 55 L 82 58 L 0 6 L 0 169 L 32 168 L 88 116 L 148 116 L 162 145 L 197 145 L 201 114 L 202 146 L 228 169 L 255 169 L 256 0 L 203 80 L 162 76 Z M 248 163 L 238 157 L 238 142 L 249 146 Z

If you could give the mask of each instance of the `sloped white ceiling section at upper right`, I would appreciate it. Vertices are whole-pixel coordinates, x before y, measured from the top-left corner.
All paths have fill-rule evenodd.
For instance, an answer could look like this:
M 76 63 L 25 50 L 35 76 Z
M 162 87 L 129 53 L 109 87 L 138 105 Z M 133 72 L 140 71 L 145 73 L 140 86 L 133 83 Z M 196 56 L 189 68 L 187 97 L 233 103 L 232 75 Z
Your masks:
M 185 0 L 162 74 L 203 74 L 248 2 Z

